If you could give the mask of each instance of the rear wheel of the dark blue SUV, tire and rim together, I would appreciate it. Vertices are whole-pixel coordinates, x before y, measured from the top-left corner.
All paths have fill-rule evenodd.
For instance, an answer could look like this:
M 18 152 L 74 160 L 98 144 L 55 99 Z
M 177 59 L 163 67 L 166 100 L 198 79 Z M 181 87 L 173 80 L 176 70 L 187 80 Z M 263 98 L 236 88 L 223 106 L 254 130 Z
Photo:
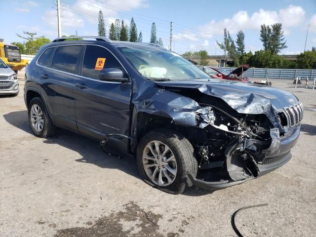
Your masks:
M 29 123 L 38 137 L 48 137 L 55 133 L 55 127 L 49 118 L 47 109 L 39 97 L 30 101 L 28 106 Z

